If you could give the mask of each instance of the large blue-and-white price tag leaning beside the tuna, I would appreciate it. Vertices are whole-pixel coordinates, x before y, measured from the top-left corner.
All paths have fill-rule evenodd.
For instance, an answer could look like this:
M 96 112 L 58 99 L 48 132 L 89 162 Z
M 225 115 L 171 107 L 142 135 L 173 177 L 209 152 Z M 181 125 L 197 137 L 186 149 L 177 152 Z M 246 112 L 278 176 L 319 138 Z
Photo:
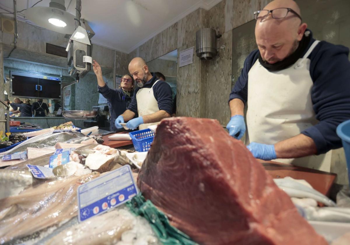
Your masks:
M 139 190 L 129 165 L 78 187 L 78 220 L 85 221 L 129 201 Z

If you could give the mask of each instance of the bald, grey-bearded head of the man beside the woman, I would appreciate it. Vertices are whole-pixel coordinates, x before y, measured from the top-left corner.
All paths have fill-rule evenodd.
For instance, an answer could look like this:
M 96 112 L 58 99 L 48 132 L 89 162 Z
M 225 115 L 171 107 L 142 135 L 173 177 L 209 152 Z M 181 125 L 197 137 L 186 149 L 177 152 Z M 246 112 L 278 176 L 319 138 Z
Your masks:
M 133 58 L 129 63 L 129 72 L 137 82 L 138 86 L 142 87 L 148 80 L 152 78 L 151 72 L 144 59 L 140 57 Z

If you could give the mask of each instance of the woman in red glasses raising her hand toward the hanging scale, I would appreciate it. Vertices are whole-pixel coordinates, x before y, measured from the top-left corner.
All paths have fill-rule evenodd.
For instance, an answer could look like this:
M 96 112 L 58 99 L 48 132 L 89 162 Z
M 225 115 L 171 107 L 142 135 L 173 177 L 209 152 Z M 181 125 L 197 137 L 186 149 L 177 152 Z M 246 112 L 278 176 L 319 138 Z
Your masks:
M 116 128 L 114 122 L 129 106 L 131 98 L 134 95 L 134 78 L 131 75 L 126 74 L 121 78 L 118 89 L 111 89 L 104 82 L 101 66 L 96 61 L 93 61 L 92 68 L 97 77 L 98 92 L 108 101 L 109 112 L 111 115 L 110 131 L 116 131 L 118 128 Z

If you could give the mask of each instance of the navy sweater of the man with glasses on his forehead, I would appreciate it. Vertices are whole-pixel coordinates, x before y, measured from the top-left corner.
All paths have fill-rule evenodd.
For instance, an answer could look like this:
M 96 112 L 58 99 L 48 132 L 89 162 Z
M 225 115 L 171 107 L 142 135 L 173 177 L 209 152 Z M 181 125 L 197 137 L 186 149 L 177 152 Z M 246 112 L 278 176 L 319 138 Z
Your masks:
M 314 41 L 315 39 L 310 39 L 301 57 Z M 244 61 L 244 67 L 233 86 L 229 101 L 239 98 L 244 103 L 247 102 L 248 72 L 257 61 L 258 56 L 259 50 L 254 50 Z M 311 89 L 311 100 L 319 123 L 301 133 L 314 140 L 317 154 L 342 147 L 341 139 L 336 134 L 336 128 L 343 121 L 350 119 L 350 62 L 348 56 L 348 48 L 325 41 L 318 43 L 308 56 L 310 76 L 314 83 Z

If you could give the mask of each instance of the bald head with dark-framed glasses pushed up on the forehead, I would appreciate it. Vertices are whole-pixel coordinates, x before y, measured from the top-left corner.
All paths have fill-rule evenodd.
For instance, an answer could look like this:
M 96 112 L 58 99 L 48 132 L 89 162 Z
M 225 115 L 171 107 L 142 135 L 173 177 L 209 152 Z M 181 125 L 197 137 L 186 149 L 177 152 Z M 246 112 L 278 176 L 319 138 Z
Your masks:
M 293 0 L 274 0 L 263 9 L 277 8 L 290 8 L 300 15 L 300 8 Z M 282 19 L 273 19 L 269 13 L 266 19 L 257 20 L 255 40 L 262 59 L 273 64 L 288 57 L 298 47 L 306 28 L 306 23 L 301 23 L 299 17 L 291 11 Z

